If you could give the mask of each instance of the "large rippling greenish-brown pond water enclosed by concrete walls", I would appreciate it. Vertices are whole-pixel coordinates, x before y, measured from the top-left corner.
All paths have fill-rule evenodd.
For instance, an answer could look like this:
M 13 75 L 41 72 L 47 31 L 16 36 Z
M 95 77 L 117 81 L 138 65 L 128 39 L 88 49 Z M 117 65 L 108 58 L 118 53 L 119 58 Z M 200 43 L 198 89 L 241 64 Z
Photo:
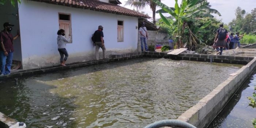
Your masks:
M 176 119 L 243 65 L 140 58 L 0 82 L 29 128 L 142 128 Z

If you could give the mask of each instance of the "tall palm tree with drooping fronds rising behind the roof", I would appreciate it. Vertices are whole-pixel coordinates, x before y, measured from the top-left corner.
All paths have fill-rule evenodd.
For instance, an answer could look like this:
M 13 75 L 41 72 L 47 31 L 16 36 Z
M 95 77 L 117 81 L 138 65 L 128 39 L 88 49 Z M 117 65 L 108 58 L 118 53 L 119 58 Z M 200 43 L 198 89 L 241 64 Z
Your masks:
M 161 1 L 161 0 L 157 0 Z M 153 12 L 153 23 L 155 25 L 155 12 L 157 8 L 157 4 L 153 0 L 127 0 L 125 5 L 131 5 L 137 8 L 137 10 L 142 10 L 143 8 L 146 7 L 146 5 L 150 6 L 150 9 Z

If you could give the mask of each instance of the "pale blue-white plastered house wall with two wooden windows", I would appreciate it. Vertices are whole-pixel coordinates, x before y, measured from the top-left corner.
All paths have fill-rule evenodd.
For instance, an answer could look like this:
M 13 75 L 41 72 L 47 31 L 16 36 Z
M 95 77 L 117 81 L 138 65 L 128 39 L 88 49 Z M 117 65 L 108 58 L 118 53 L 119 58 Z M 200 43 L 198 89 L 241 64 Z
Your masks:
M 71 14 L 72 44 L 66 47 L 67 63 L 94 59 L 91 35 L 99 25 L 104 27 L 107 55 L 137 51 L 138 18 L 23 0 L 19 20 L 24 69 L 60 63 L 56 40 L 59 12 Z M 117 42 L 117 20 L 124 21 L 124 42 Z

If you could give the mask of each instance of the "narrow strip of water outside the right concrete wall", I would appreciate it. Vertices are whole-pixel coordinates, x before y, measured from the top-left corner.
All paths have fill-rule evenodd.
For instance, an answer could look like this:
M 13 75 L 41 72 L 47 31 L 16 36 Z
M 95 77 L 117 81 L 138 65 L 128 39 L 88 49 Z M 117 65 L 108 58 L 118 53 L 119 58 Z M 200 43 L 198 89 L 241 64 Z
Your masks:
M 208 128 L 253 128 L 252 121 L 256 118 L 256 108 L 249 105 L 247 97 L 255 92 L 256 70 L 242 84 L 234 97 L 212 121 Z

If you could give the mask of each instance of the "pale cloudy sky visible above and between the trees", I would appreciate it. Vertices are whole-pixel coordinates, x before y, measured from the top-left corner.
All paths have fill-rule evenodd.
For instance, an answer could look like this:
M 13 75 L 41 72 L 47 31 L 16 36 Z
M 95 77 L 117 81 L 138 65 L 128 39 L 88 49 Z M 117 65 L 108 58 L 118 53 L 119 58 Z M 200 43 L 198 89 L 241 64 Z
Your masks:
M 125 1 L 127 0 L 119 0 L 122 4 L 120 6 L 129 8 L 133 10 L 133 7 L 130 5 L 125 5 Z M 236 18 L 235 11 L 236 8 L 239 6 L 242 10 L 245 10 L 246 13 L 251 13 L 253 8 L 256 8 L 256 0 L 207 0 L 210 2 L 211 8 L 218 10 L 222 16 L 215 15 L 215 18 L 222 20 L 223 23 L 227 24 L 231 22 L 232 19 Z M 169 7 L 174 7 L 175 1 L 174 0 L 161 0 L 162 3 Z M 181 0 L 178 0 L 181 3 Z M 136 8 L 135 8 L 136 9 Z M 160 9 L 160 8 L 159 8 Z M 152 17 L 152 11 L 150 7 L 144 8 L 141 10 Z M 165 16 L 169 16 L 166 14 Z M 159 14 L 156 14 L 156 19 L 160 18 Z

